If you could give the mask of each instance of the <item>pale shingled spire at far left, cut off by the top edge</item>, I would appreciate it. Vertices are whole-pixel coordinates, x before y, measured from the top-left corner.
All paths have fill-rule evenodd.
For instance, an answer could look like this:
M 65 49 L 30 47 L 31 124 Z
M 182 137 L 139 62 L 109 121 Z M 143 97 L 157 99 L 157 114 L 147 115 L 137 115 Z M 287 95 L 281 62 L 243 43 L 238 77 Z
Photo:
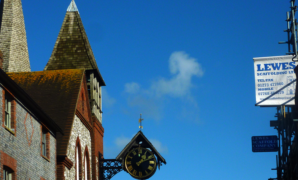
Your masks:
M 21 0 L 0 2 L 0 50 L 5 72 L 30 71 L 30 62 Z

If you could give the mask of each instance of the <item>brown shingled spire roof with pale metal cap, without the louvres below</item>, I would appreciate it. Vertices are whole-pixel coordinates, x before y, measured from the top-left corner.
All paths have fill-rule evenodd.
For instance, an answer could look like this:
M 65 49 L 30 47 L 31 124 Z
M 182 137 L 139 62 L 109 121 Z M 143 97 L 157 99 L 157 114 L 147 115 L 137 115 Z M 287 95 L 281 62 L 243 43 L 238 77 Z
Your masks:
M 63 20 L 54 50 L 44 70 L 76 68 L 96 70 L 101 79 L 101 85 L 105 86 L 77 6 L 72 0 Z

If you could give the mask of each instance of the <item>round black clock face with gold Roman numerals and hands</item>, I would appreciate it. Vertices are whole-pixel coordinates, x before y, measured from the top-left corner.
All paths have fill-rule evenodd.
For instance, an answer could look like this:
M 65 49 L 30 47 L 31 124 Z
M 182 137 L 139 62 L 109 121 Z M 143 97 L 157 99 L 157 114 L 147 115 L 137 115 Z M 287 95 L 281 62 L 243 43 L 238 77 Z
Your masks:
M 126 156 L 125 167 L 133 178 L 148 179 L 156 171 L 156 159 L 150 150 L 136 148 Z

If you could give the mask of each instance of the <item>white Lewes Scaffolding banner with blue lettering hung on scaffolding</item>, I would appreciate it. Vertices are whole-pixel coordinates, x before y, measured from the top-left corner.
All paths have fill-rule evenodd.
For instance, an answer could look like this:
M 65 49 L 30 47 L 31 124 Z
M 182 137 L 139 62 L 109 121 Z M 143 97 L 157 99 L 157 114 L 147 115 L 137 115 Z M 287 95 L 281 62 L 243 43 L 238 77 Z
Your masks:
M 293 56 L 254 58 L 256 106 L 295 105 L 296 74 L 298 62 Z

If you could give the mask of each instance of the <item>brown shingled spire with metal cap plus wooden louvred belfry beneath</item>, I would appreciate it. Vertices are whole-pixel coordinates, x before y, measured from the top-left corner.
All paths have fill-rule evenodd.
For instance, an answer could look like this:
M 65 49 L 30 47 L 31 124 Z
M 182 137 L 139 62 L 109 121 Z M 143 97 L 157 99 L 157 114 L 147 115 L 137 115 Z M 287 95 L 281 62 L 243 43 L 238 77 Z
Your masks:
M 77 6 L 72 0 L 44 70 L 85 68 L 91 115 L 101 123 L 101 86 L 105 86 Z

